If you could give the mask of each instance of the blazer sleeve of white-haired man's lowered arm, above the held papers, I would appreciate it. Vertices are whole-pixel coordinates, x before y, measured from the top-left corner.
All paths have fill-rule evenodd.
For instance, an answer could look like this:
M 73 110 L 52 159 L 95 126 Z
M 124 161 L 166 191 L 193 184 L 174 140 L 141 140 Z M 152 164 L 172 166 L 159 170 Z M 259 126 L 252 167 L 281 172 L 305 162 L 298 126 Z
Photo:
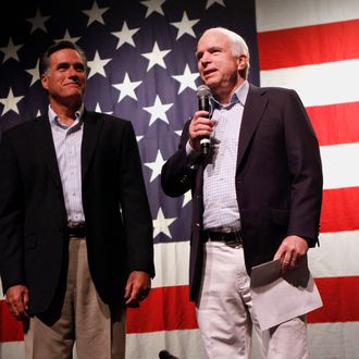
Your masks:
M 322 205 L 322 163 L 317 136 L 301 100 L 289 90 L 284 102 L 284 128 L 292 176 L 288 235 L 315 244 Z

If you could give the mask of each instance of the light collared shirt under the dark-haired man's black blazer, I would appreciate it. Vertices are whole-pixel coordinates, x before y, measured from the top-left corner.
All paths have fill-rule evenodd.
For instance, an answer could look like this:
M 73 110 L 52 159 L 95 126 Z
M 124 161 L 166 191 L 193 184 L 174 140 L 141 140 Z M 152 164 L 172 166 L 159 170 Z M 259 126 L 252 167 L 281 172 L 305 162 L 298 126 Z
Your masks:
M 61 176 L 67 221 L 85 222 L 82 195 L 81 147 L 84 123 L 81 116 L 84 107 L 76 111 L 76 120 L 71 126 L 61 123 L 61 119 L 49 106 L 48 114 L 51 125 L 54 149 Z

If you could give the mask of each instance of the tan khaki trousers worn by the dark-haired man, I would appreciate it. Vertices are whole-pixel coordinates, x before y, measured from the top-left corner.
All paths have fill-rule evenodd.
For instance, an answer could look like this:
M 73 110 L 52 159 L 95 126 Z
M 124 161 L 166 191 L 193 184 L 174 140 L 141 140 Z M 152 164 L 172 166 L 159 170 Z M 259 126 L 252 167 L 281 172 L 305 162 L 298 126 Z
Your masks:
M 30 318 L 25 330 L 25 358 L 71 359 L 75 351 L 77 359 L 124 359 L 125 312 L 120 306 L 110 310 L 97 295 L 85 238 L 70 239 L 69 256 L 60 318 Z

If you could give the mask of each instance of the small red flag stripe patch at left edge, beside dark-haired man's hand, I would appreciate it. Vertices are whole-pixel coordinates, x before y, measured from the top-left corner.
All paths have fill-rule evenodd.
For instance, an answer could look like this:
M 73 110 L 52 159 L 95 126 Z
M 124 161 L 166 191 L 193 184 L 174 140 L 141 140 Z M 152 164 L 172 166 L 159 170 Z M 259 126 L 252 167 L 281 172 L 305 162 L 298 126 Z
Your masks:
M 16 321 L 4 300 L 0 300 L 0 343 L 21 342 L 24 339 L 23 325 Z

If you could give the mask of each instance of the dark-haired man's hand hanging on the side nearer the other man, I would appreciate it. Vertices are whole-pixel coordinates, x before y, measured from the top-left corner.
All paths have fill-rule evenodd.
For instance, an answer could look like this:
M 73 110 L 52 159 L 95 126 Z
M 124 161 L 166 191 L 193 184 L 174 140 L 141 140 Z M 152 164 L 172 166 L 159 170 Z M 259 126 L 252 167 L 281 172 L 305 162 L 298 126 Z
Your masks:
M 129 273 L 126 288 L 125 300 L 127 307 L 138 307 L 138 301 L 144 300 L 151 289 L 151 278 L 149 274 L 141 271 Z

